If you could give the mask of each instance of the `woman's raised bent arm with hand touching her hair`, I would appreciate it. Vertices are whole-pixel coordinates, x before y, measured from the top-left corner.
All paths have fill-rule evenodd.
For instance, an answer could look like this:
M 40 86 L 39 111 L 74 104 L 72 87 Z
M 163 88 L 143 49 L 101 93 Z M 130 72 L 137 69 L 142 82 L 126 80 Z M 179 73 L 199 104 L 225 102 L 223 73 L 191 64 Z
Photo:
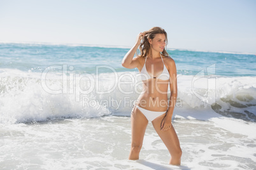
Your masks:
M 136 58 L 133 59 L 133 56 L 136 52 L 136 50 L 139 47 L 139 44 L 141 43 L 141 39 L 144 35 L 142 33 L 139 33 L 137 36 L 136 44 L 126 53 L 122 60 L 122 66 L 127 69 L 134 69 L 135 67 L 138 67 L 139 61 L 136 60 Z

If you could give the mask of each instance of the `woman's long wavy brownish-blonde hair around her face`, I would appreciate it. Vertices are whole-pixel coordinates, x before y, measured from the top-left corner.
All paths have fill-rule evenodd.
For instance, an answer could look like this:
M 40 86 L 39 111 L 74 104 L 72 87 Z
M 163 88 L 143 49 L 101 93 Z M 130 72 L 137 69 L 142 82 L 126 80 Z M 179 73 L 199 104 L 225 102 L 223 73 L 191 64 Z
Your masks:
M 148 55 L 148 53 L 150 52 L 150 42 L 148 42 L 148 40 L 153 39 L 156 34 L 164 34 L 164 36 L 166 36 L 166 45 L 168 44 L 167 33 L 164 29 L 160 27 L 152 27 L 150 30 L 146 30 L 145 32 L 143 32 L 143 34 L 145 36 L 143 36 L 141 44 L 139 44 L 140 55 L 138 55 L 138 57 L 145 57 Z M 162 51 L 162 55 L 169 56 L 166 48 L 164 48 L 164 51 Z

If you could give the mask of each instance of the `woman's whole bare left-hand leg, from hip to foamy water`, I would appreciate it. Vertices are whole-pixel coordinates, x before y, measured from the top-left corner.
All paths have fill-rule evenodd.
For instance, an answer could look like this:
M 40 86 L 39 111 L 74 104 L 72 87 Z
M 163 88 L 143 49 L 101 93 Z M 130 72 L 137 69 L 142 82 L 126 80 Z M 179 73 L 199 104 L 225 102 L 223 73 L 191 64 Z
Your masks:
M 131 114 L 132 143 L 129 155 L 129 159 L 131 160 L 139 159 L 139 152 L 142 147 L 146 126 L 148 125 L 145 115 L 136 106 L 134 107 L 132 108 L 133 113 Z

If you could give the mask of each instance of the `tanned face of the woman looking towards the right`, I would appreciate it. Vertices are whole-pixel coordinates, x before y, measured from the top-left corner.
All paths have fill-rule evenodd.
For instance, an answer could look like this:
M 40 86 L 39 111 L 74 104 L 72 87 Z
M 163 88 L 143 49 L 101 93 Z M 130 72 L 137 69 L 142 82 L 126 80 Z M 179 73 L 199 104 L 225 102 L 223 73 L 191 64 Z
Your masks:
M 149 39 L 149 42 L 155 51 L 162 52 L 166 46 L 166 36 L 164 34 L 156 34 L 153 39 Z

